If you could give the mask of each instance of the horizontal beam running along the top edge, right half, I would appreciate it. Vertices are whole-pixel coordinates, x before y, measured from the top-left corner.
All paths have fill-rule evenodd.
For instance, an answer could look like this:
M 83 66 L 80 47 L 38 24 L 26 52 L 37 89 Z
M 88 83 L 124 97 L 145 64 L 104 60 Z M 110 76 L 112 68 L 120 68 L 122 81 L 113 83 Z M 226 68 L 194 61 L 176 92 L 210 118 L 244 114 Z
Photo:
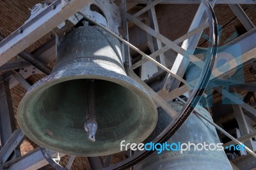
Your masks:
M 147 0 L 127 0 L 127 4 L 147 4 Z M 200 0 L 162 0 L 159 4 L 200 4 Z M 216 4 L 256 4 L 254 0 L 216 0 Z

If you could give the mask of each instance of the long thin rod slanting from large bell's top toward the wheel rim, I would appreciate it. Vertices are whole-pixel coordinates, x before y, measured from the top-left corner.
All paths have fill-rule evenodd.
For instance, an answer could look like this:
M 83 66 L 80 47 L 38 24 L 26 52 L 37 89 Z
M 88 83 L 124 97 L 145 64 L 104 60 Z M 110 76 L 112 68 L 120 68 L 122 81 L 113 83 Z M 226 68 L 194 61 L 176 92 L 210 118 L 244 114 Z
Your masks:
M 175 77 L 176 79 L 178 79 L 179 81 L 183 82 L 184 84 L 188 84 L 184 79 L 182 79 L 181 77 L 177 76 L 175 73 L 171 72 L 171 70 L 169 70 L 168 68 L 166 68 L 166 66 L 163 66 L 161 63 L 157 62 L 155 59 L 150 58 L 150 56 L 148 56 L 147 54 L 145 54 L 144 52 L 142 52 L 140 49 L 138 49 L 137 47 L 135 47 L 134 45 L 132 45 L 131 43 L 127 42 L 126 40 L 124 40 L 123 38 L 121 38 L 120 36 L 116 35 L 115 33 L 113 33 L 112 31 L 110 31 L 108 28 L 98 24 L 97 22 L 95 22 L 94 20 L 90 19 L 90 17 L 87 17 L 86 15 L 84 15 L 81 12 L 77 12 L 80 15 L 82 15 L 85 19 L 89 20 L 90 22 L 93 22 L 93 24 L 101 27 L 102 29 L 104 29 L 105 31 L 107 31 L 109 34 L 115 36 L 118 40 L 120 40 L 121 42 L 125 43 L 126 45 L 128 45 L 129 47 L 131 47 L 132 49 L 134 49 L 136 52 L 140 53 L 143 57 L 147 58 L 149 61 L 151 61 L 152 63 L 156 64 L 157 66 L 161 67 L 163 70 L 165 70 L 166 72 L 170 73 L 173 77 Z

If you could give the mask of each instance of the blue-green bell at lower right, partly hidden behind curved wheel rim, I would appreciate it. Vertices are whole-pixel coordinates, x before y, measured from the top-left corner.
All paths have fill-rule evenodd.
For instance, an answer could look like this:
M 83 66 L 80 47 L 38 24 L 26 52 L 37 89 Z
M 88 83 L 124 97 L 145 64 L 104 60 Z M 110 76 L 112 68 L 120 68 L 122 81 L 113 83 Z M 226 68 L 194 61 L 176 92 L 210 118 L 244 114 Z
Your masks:
M 180 102 L 168 103 L 177 112 L 182 109 Z M 208 119 L 212 121 L 211 115 L 203 107 L 197 108 L 201 114 L 204 114 Z M 172 118 L 162 108 L 157 109 L 159 119 L 157 121 L 157 127 L 154 132 L 146 140 L 150 142 L 157 135 L 159 135 L 164 128 L 172 121 Z M 216 129 L 212 127 L 210 123 L 205 120 L 200 120 L 196 114 L 191 114 L 169 140 L 168 144 L 172 143 L 220 143 Z M 175 148 L 175 146 L 173 146 Z M 202 148 L 200 146 L 200 148 Z M 195 146 L 191 145 L 190 150 L 183 151 L 163 151 L 161 154 L 154 153 L 146 160 L 143 160 L 134 169 L 232 169 L 225 152 L 218 150 L 196 150 Z

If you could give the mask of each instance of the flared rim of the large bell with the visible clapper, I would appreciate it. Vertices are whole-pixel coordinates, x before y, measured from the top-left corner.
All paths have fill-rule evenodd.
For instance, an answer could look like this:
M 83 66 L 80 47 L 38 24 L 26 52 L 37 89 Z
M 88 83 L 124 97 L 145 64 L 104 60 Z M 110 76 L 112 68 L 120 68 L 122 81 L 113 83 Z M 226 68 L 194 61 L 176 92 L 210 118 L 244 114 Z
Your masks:
M 77 68 L 77 69 L 70 69 L 70 70 L 65 70 L 65 71 L 54 72 L 54 73 L 51 73 L 50 75 L 45 76 L 43 79 L 41 79 L 40 81 L 33 84 L 33 86 L 31 86 L 31 88 L 28 89 L 28 91 L 26 92 L 26 95 L 24 95 L 24 97 L 20 101 L 19 107 L 17 109 L 17 121 L 18 121 L 20 129 L 24 132 L 24 134 L 26 134 L 26 136 L 29 139 L 31 139 L 31 140 L 33 139 L 32 141 L 35 142 L 36 144 L 38 144 L 39 146 L 48 148 L 53 151 L 57 151 L 59 153 L 65 153 L 67 155 L 96 157 L 96 156 L 104 156 L 104 155 L 110 155 L 110 154 L 121 152 L 122 150 L 116 149 L 116 150 L 111 150 L 111 151 L 105 151 L 102 154 L 99 154 L 99 153 L 86 154 L 86 153 L 74 153 L 72 151 L 65 151 L 65 150 L 60 150 L 60 149 L 56 150 L 56 148 L 49 146 L 45 143 L 41 143 L 39 140 L 37 140 L 36 136 L 33 135 L 33 133 L 31 133 L 31 130 L 29 130 L 29 128 L 26 126 L 27 124 L 22 123 L 22 121 L 24 122 L 24 120 L 22 118 L 20 118 L 19 112 L 21 109 L 23 109 L 23 107 L 21 108 L 21 105 L 26 105 L 27 100 L 28 100 L 27 98 L 29 98 L 29 96 L 33 95 L 33 93 L 36 93 L 36 91 L 38 89 L 40 89 L 41 86 L 43 86 L 43 85 L 48 86 L 47 88 L 49 88 L 49 87 L 54 86 L 55 84 L 58 84 L 60 82 L 70 81 L 70 80 L 74 80 L 74 79 L 100 79 L 100 80 L 115 82 L 116 84 L 119 84 L 120 86 L 124 86 L 126 88 L 129 87 L 130 89 L 139 90 L 139 91 L 141 91 L 141 95 L 145 95 L 148 97 L 148 101 L 150 101 L 150 105 L 152 106 L 152 109 L 154 109 L 154 114 L 152 114 L 152 116 L 154 116 L 153 119 L 155 121 L 152 122 L 152 125 L 147 130 L 146 134 L 145 133 L 141 134 L 141 136 L 144 136 L 143 139 L 141 138 L 140 141 L 136 141 L 136 142 L 142 143 L 143 141 L 145 141 L 145 139 L 147 139 L 147 137 L 154 131 L 154 128 L 156 128 L 157 118 L 158 118 L 157 107 L 156 107 L 154 101 L 152 100 L 152 98 L 150 97 L 148 91 L 139 82 L 134 81 L 134 79 L 132 79 L 131 77 L 129 77 L 127 75 L 113 72 L 111 70 L 101 69 L 102 72 L 99 72 L 99 70 L 100 69 L 98 69 L 98 68 L 97 68 L 97 70 L 93 70 L 92 68 Z M 109 76 L 109 75 L 111 75 L 111 76 Z M 20 126 L 20 125 L 22 125 L 22 126 Z M 118 147 L 120 149 L 120 146 L 118 146 Z M 128 149 L 129 148 L 130 147 L 128 147 Z

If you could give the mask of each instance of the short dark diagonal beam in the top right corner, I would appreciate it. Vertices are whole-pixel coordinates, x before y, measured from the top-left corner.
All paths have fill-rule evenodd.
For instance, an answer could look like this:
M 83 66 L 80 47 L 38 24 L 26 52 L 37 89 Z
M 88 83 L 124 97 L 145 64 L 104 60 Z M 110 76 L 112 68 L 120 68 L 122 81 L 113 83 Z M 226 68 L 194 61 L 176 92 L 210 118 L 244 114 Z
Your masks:
M 247 31 L 255 28 L 252 21 L 249 19 L 249 17 L 246 15 L 243 8 L 239 4 L 228 4 L 228 6 L 236 14 L 237 18 L 241 21 Z

